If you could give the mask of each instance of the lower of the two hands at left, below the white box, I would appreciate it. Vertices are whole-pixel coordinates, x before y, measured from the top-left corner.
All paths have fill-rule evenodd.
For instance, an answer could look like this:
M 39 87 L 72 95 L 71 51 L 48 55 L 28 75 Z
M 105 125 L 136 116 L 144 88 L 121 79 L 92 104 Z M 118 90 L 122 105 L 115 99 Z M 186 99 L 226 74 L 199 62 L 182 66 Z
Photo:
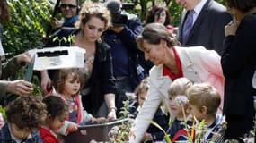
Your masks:
M 33 85 L 25 80 L 9 81 L 6 91 L 19 96 L 29 95 L 33 91 Z

